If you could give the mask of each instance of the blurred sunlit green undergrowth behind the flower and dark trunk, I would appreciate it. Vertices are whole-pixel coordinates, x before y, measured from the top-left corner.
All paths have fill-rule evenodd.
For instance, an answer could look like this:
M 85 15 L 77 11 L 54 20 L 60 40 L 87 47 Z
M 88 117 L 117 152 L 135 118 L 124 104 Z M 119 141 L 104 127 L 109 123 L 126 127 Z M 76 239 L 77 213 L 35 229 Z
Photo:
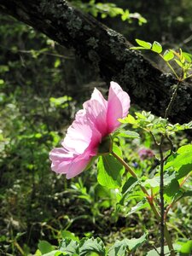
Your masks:
M 191 1 L 107 3 L 72 4 L 123 33 L 132 44 L 135 38 L 142 38 L 192 51 Z M 142 16 L 123 16 L 120 9 Z M 153 216 L 148 211 L 129 218 L 122 211 L 115 215 L 116 192 L 96 183 L 96 169 L 73 180 L 50 171 L 50 149 L 60 144 L 67 125 L 93 87 L 105 93 L 106 84 L 92 67 L 73 55 L 73 50 L 61 48 L 3 14 L 0 34 L 0 254 L 34 254 L 39 241 L 58 245 L 66 236 L 100 236 L 108 245 L 116 239 L 131 238 L 133 232 L 134 237 L 142 236 L 143 223 L 153 234 L 143 252 L 145 247 L 153 248 L 158 236 Z M 175 141 L 182 145 L 188 137 L 180 134 Z M 124 141 L 120 143 L 131 165 L 137 166 L 138 175 L 150 171 L 153 160 L 141 160 L 137 154 L 139 148 L 150 147 L 147 135 L 131 140 L 129 148 Z M 188 185 L 192 185 L 191 180 Z M 179 237 L 191 236 L 191 203 L 187 198 L 184 207 L 178 203 L 172 210 L 170 228 Z M 143 253 L 137 251 L 135 255 Z

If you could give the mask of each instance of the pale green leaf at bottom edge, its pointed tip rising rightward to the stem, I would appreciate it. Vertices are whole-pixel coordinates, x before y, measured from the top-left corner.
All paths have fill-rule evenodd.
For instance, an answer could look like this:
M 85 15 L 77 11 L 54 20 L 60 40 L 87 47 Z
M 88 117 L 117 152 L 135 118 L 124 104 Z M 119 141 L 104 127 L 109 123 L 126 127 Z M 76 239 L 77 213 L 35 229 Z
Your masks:
M 144 234 L 140 238 L 123 239 L 122 241 L 115 241 L 112 247 L 108 250 L 108 256 L 125 256 L 127 250 L 134 251 L 137 247 L 140 247 L 144 241 L 146 241 L 147 234 Z

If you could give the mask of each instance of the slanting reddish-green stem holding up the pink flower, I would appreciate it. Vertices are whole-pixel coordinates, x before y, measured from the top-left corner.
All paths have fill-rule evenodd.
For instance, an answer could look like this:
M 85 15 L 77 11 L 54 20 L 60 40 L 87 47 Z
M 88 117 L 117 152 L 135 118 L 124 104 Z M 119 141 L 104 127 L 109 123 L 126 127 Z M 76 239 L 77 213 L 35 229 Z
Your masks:
M 131 173 L 131 176 L 132 176 L 132 177 L 136 177 L 136 178 L 138 179 L 137 174 L 131 169 L 130 166 L 127 165 L 127 163 L 125 163 L 125 160 L 123 160 L 122 158 L 120 158 L 119 155 L 118 155 L 118 154 L 115 154 L 113 151 L 111 152 L 111 154 L 113 154 L 113 156 L 114 156 L 117 160 L 119 160 L 119 162 L 125 167 L 125 169 L 126 169 L 128 172 Z M 158 212 L 157 209 L 156 209 L 156 207 L 154 206 L 153 198 L 151 198 L 151 196 L 148 195 L 147 189 L 145 189 L 145 187 L 143 187 L 141 184 L 140 184 L 140 188 L 143 190 L 143 193 L 146 195 L 146 198 L 147 198 L 147 200 L 148 200 L 148 203 L 149 203 L 149 205 L 150 205 L 152 211 L 154 212 L 155 217 L 157 218 L 158 221 L 160 221 L 160 219 L 161 219 L 160 212 Z M 170 234 L 169 234 L 169 230 L 167 229 L 166 224 L 165 224 L 165 226 L 164 226 L 164 235 L 165 235 L 165 237 L 166 237 L 166 242 L 167 242 L 167 245 L 168 245 L 169 250 L 170 250 L 170 255 L 171 255 L 171 256 L 175 256 L 174 248 L 173 248 L 173 246 L 172 246 L 172 238 L 171 238 L 171 236 L 170 236 Z

